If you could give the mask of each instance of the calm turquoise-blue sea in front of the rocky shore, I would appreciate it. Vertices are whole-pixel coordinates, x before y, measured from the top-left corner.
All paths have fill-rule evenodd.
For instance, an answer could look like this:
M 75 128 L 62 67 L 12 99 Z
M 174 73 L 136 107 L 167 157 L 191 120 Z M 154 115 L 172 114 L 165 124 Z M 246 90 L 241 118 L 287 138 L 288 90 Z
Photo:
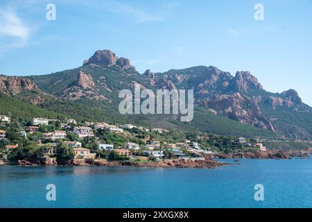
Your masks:
M 56 201 L 46 200 L 48 184 Z M 254 200 L 256 184 L 264 201 Z M 241 160 L 220 169 L 6 166 L 0 207 L 312 207 L 312 160 Z

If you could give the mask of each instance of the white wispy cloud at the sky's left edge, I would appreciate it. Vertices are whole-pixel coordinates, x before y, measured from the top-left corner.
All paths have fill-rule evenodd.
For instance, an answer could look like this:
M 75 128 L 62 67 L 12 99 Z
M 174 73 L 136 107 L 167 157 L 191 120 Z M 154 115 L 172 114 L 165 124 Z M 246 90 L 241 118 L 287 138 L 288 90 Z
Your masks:
M 26 45 L 31 28 L 26 26 L 10 8 L 0 9 L 0 47 Z

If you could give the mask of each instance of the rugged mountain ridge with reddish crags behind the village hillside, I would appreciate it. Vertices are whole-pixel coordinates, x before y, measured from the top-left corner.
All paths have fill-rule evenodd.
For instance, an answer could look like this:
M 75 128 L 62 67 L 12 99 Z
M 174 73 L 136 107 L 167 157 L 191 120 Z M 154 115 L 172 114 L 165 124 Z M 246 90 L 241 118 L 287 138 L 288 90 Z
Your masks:
M 312 108 L 298 93 L 294 89 L 267 92 L 249 71 L 232 76 L 217 67 L 197 66 L 162 73 L 148 69 L 139 74 L 127 58 L 98 50 L 82 67 L 26 78 L 47 94 L 103 110 L 110 106 L 110 112 L 118 112 L 119 90 L 133 89 L 134 83 L 148 89 L 193 89 L 196 105 L 204 112 L 270 130 L 272 135 L 312 138 Z

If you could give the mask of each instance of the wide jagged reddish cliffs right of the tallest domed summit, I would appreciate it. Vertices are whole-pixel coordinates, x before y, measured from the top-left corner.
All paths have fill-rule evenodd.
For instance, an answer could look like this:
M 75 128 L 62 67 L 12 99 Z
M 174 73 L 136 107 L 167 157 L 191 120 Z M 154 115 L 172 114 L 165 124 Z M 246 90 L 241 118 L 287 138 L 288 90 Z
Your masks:
M 276 117 L 266 115 L 262 106 L 300 110 L 302 104 L 295 90 L 281 94 L 268 94 L 258 79 L 249 71 L 238 71 L 235 76 L 216 67 L 191 67 L 153 74 L 147 70 L 142 75 L 146 83 L 163 89 L 194 89 L 197 105 L 203 105 L 214 114 L 241 123 L 277 132 Z

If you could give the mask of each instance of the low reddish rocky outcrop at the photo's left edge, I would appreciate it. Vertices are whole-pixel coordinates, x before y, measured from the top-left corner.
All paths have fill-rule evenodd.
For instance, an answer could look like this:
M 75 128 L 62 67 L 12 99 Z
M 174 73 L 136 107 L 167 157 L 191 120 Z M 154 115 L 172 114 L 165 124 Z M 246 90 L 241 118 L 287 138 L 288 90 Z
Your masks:
M 39 90 L 37 85 L 28 78 L 16 76 L 0 76 L 0 92 L 16 95 L 25 91 Z

